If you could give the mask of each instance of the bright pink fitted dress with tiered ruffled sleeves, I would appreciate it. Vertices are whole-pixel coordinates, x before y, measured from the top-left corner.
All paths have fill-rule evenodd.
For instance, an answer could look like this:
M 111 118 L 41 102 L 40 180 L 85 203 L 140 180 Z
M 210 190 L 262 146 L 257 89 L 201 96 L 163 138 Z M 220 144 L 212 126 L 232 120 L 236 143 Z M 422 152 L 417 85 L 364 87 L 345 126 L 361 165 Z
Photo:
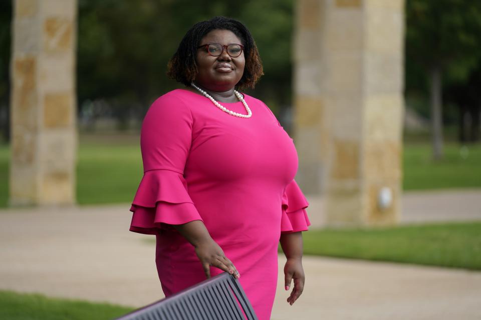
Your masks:
M 157 271 L 169 296 L 205 275 L 193 246 L 168 224 L 202 220 L 265 320 L 276 293 L 281 232 L 308 229 L 309 203 L 294 180 L 293 139 L 266 104 L 244 96 L 250 118 L 184 89 L 155 100 L 142 124 L 144 176 L 130 230 L 156 235 Z M 221 104 L 247 114 L 241 102 Z M 212 276 L 220 272 L 211 267 Z

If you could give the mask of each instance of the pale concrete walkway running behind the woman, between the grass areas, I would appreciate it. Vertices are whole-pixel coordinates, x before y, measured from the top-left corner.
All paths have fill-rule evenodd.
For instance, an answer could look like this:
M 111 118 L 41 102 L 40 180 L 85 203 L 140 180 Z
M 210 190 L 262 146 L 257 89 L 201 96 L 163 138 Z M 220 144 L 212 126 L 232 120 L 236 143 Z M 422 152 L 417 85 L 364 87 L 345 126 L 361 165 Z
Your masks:
M 403 202 L 405 222 L 481 219 L 480 191 L 412 193 Z M 160 299 L 153 236 L 128 231 L 128 208 L 0 210 L 0 289 L 131 306 Z M 290 306 L 283 263 L 273 319 L 481 318 L 481 272 L 306 256 L 305 291 Z

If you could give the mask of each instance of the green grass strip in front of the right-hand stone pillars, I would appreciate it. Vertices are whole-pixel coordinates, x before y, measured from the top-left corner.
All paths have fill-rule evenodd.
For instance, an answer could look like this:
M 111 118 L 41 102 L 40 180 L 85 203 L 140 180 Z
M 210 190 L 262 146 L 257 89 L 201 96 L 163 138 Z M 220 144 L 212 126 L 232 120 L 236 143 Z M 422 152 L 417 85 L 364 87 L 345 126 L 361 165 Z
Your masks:
M 481 221 L 303 233 L 304 253 L 481 270 Z

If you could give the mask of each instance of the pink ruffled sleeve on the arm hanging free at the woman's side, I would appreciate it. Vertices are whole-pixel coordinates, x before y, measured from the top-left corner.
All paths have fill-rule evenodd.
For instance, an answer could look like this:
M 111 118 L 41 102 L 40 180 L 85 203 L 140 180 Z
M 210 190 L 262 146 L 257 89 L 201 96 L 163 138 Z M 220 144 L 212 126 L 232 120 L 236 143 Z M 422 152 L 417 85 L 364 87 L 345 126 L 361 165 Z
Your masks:
M 281 232 L 306 231 L 311 225 L 306 208 L 309 202 L 295 180 L 292 180 L 282 196 Z

